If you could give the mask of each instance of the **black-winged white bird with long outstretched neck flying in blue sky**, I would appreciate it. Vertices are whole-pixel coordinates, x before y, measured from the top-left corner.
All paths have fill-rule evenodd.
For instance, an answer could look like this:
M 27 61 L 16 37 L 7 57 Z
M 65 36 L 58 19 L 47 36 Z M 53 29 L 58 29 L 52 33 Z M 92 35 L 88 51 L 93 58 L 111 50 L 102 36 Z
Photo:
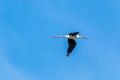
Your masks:
M 76 47 L 75 39 L 87 39 L 85 36 L 78 35 L 79 32 L 71 32 L 68 35 L 64 36 L 53 36 L 53 38 L 67 38 L 68 39 L 68 49 L 67 49 L 67 57 L 71 54 L 73 49 Z

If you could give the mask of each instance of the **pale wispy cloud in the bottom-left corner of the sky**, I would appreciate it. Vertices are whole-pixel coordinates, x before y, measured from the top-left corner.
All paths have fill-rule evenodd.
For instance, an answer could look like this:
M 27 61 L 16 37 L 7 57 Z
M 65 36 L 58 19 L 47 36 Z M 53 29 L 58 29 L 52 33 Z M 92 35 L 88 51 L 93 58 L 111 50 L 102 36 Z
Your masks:
M 3 57 L 3 51 L 0 50 L 0 78 L 1 80 L 32 80 L 29 75 L 24 71 L 17 69 L 13 66 L 5 57 Z

